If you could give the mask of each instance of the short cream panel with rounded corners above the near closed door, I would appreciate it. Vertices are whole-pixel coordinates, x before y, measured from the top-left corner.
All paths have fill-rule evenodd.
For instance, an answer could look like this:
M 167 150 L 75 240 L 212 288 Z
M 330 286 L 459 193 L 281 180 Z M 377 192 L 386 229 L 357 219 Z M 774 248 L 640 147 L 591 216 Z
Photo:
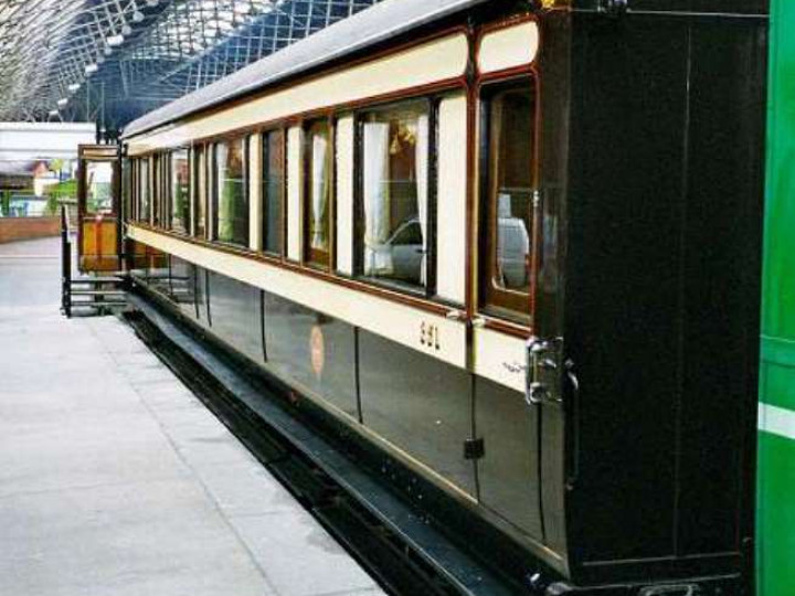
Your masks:
M 538 24 L 533 21 L 499 29 L 484 35 L 478 51 L 478 70 L 495 73 L 526 66 L 539 50 Z

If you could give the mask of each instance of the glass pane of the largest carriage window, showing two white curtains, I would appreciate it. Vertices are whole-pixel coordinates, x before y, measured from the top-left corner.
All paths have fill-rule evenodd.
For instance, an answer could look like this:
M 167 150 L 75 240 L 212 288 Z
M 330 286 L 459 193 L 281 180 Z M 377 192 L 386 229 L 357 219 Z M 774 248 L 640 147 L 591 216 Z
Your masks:
M 362 273 L 425 285 L 428 107 L 425 102 L 362 118 Z

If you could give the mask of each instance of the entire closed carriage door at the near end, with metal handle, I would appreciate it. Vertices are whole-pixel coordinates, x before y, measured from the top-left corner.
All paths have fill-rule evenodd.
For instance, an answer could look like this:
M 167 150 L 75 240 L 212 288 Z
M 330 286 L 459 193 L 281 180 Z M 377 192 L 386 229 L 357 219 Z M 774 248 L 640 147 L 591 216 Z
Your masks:
M 560 419 L 562 343 L 541 334 L 537 299 L 547 206 L 538 187 L 537 85 L 532 76 L 480 93 L 478 296 L 473 320 L 480 503 L 548 544 L 548 409 Z

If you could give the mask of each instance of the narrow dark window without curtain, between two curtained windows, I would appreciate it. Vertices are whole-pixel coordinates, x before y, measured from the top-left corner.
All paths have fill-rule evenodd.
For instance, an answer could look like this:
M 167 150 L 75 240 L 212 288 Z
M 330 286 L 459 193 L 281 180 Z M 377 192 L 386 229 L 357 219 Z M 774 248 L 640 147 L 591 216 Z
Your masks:
M 263 251 L 282 254 L 282 202 L 284 200 L 284 132 L 263 135 Z

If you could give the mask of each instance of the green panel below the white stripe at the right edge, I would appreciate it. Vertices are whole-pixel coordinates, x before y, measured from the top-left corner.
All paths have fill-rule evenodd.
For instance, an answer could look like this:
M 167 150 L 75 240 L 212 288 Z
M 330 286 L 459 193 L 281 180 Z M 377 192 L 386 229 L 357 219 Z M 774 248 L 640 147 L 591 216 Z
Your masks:
M 757 550 L 760 596 L 793 596 L 795 586 L 795 441 L 760 433 Z

